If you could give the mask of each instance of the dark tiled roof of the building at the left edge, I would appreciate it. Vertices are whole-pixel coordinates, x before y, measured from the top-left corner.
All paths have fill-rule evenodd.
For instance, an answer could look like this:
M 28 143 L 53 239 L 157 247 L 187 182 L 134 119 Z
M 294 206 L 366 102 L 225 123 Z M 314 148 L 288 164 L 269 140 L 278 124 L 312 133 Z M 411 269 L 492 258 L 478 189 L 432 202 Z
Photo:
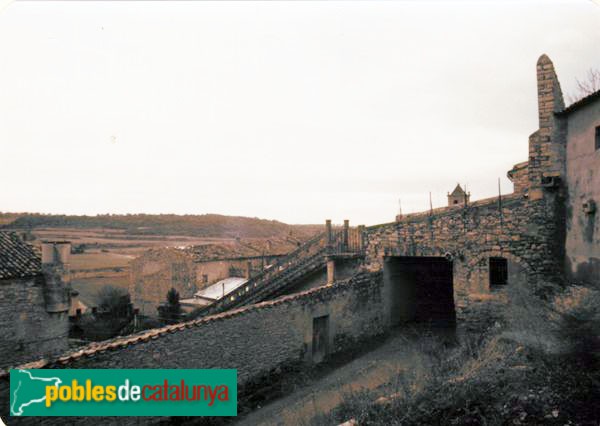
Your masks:
M 0 231 L 0 280 L 33 277 L 41 272 L 41 259 L 15 232 Z

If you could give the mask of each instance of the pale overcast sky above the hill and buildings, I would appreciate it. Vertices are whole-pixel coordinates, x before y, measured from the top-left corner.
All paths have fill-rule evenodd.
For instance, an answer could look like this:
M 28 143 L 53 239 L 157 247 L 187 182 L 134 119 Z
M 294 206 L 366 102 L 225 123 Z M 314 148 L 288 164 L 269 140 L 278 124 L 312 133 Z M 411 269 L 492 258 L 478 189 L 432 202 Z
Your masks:
M 0 13 L 0 211 L 375 224 L 512 191 L 535 64 L 600 68 L 563 2 L 24 2 Z

